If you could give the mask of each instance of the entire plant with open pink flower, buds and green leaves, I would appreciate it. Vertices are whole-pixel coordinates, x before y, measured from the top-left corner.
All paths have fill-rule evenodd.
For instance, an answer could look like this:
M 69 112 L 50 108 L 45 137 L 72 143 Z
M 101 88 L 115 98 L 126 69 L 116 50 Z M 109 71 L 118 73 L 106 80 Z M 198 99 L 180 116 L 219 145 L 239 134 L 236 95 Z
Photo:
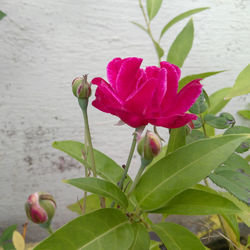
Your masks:
M 200 239 L 185 227 L 165 221 L 171 214 L 218 214 L 230 247 L 243 249 L 236 219 L 249 223 L 249 218 L 246 219 L 249 209 L 242 203 L 249 203 L 249 165 L 240 153 L 250 147 L 250 129 L 235 126 L 229 113 L 217 113 L 232 97 L 249 92 L 246 86 L 250 66 L 240 73 L 234 87 L 219 90 L 210 97 L 200 81 L 219 71 L 180 79 L 180 67 L 192 46 L 193 22 L 190 20 L 173 42 L 167 55 L 169 62 L 161 60 L 164 51 L 150 27 L 161 2 L 148 0 L 146 14 L 139 1 L 146 27 L 136 24 L 151 38 L 159 67 L 141 69 L 140 58 L 115 58 L 107 66 L 108 82 L 102 78 L 92 80 L 97 85 L 93 106 L 135 128 L 123 167 L 93 148 L 87 114 L 91 84 L 87 76 L 73 81 L 73 93 L 83 112 L 85 141 L 57 141 L 53 147 L 85 167 L 85 177 L 64 180 L 84 191 L 83 199 L 70 206 L 80 216 L 52 232 L 36 250 L 146 250 L 160 249 L 162 243 L 169 250 L 205 249 Z M 160 38 L 176 22 L 205 9 L 177 16 L 164 26 Z M 154 133 L 143 133 L 148 124 L 154 125 Z M 169 128 L 166 145 L 162 145 L 157 126 Z M 215 128 L 224 129 L 224 134 L 215 136 Z M 136 144 L 141 166 L 132 180 L 128 169 Z M 236 178 L 239 183 L 235 183 Z M 213 190 L 208 179 L 228 192 Z M 201 181 L 205 185 L 198 184 Z M 33 222 L 39 218 L 43 225 L 48 217 L 50 224 L 48 211 L 36 198 L 35 208 L 39 209 L 30 209 L 33 203 L 27 205 L 28 217 Z M 55 208 L 51 199 L 46 202 Z M 44 214 L 40 215 L 39 211 Z M 162 214 L 163 221 L 152 222 L 150 213 Z M 150 240 L 151 231 L 159 236 L 161 243 Z

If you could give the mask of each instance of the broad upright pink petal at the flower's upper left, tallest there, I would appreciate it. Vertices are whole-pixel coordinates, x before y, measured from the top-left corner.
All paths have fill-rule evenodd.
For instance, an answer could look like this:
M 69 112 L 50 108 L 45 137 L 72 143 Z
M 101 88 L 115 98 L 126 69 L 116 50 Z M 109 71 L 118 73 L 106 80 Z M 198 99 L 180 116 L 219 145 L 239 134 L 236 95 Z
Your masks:
M 141 75 L 141 58 L 130 57 L 122 61 L 119 73 L 116 78 L 116 92 L 122 100 L 135 90 L 138 78 Z

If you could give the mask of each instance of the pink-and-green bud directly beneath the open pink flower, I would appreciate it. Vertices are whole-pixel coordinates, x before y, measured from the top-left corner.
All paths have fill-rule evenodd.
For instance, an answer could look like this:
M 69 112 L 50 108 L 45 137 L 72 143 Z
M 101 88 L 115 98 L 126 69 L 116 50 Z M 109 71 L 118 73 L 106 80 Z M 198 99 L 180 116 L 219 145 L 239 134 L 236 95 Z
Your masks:
M 146 135 L 139 140 L 138 153 L 147 161 L 153 160 L 161 151 L 161 140 L 159 136 L 151 131 L 147 131 Z

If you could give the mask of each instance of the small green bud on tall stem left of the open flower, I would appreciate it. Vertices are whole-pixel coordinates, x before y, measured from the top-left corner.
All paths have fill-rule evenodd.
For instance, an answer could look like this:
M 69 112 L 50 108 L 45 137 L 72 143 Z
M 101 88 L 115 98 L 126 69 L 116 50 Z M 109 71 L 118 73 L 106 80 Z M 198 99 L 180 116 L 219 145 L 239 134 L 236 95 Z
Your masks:
M 87 81 L 87 75 L 77 77 L 73 80 L 72 91 L 77 98 L 86 99 L 91 96 L 91 85 Z

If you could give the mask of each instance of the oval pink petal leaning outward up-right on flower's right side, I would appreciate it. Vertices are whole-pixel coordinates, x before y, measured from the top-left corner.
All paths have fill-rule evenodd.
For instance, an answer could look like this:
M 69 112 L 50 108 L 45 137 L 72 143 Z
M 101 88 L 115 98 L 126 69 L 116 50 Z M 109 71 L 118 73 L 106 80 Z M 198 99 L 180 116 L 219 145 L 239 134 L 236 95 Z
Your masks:
M 200 84 L 200 79 L 193 80 L 188 83 L 177 95 L 175 105 L 173 107 L 174 112 L 185 113 L 188 111 L 201 94 L 201 91 L 202 85 Z

